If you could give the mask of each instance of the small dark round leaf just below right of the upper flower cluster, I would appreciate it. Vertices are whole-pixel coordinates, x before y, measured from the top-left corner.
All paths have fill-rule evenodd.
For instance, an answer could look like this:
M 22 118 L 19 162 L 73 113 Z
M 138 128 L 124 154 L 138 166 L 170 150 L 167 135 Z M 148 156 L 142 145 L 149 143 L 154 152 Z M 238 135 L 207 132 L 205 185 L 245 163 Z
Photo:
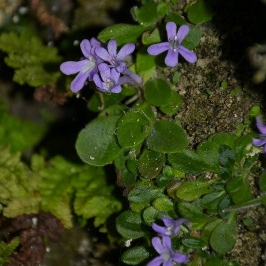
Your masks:
M 145 86 L 145 99 L 155 106 L 168 104 L 172 99 L 172 89 L 162 78 L 154 78 Z

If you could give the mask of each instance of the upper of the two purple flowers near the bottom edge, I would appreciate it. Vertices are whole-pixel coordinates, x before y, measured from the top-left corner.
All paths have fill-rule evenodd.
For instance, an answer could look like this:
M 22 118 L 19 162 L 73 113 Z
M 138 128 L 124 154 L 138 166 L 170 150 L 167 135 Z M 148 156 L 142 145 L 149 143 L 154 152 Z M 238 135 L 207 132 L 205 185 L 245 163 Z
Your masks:
M 155 232 L 161 234 L 162 236 L 174 236 L 180 230 L 180 225 L 187 223 L 188 220 L 181 218 L 178 220 L 168 219 L 166 217 L 162 218 L 166 227 L 158 226 L 155 223 L 152 223 L 152 228 Z

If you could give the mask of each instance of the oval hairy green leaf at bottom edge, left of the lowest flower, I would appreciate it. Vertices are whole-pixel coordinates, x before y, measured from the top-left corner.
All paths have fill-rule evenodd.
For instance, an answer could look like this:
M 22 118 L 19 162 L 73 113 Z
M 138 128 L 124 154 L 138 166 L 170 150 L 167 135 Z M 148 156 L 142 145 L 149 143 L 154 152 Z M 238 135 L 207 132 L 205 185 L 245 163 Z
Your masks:
M 140 246 L 123 253 L 121 261 L 127 265 L 139 265 L 149 258 L 150 254 L 145 247 Z

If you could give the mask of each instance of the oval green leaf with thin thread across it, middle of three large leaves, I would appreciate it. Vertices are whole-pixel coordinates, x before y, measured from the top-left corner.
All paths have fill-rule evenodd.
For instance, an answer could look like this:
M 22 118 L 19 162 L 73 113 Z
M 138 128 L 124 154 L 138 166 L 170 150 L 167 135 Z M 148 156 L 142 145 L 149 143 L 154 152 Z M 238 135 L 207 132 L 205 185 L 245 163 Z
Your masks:
M 154 114 L 151 106 L 144 102 L 125 113 L 117 125 L 117 138 L 122 147 L 133 147 L 150 133 Z

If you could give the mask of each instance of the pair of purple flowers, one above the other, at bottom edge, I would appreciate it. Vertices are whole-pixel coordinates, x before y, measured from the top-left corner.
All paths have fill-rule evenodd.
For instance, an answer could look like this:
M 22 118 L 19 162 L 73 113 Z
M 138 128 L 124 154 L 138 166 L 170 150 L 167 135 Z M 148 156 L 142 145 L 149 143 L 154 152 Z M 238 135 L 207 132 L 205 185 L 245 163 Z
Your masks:
M 154 258 L 147 266 L 172 266 L 173 262 L 185 263 L 188 259 L 187 255 L 176 253 L 172 250 L 171 236 L 176 235 L 180 230 L 180 225 L 187 223 L 188 220 L 181 218 L 173 220 L 169 218 L 162 218 L 165 227 L 158 226 L 152 223 L 152 228 L 161 237 L 154 237 L 152 245 L 154 249 L 160 254 L 159 257 Z

